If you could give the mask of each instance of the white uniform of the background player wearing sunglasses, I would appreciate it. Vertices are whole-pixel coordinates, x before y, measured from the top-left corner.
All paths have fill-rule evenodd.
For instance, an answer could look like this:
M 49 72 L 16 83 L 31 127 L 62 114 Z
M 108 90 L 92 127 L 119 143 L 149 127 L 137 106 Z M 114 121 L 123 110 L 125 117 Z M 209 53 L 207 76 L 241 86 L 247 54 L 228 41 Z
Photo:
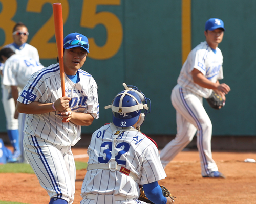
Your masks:
M 18 55 L 25 55 L 35 59 L 39 62 L 38 51 L 35 47 L 28 43 L 24 43 L 22 46 L 17 46 L 15 43 L 8 44 L 3 48 L 11 48 Z M 4 64 L 1 63 L 0 69 L 3 70 Z M 22 80 L 22 78 L 21 78 Z M 2 80 L 3 81 L 3 80 Z M 27 81 L 25 81 L 26 83 Z M 2 82 L 2 103 L 6 114 L 7 130 L 18 129 L 18 119 L 14 119 L 14 113 L 16 110 L 13 98 L 10 98 L 11 90 L 8 86 L 3 86 Z

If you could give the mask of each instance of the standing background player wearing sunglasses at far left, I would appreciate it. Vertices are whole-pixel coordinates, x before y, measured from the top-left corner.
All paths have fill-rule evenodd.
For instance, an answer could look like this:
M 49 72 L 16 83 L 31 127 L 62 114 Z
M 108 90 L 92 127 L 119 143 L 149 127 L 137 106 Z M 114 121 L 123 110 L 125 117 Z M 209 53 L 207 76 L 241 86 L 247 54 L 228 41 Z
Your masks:
M 4 46 L 4 48 L 11 48 L 16 54 L 28 56 L 39 62 L 39 55 L 37 49 L 32 45 L 26 43 L 28 40 L 28 35 L 29 33 L 26 25 L 22 22 L 18 22 L 13 28 L 13 43 Z M 2 73 L 4 64 L 1 63 L 0 65 L 0 72 Z M 27 83 L 27 81 L 25 81 L 24 83 Z M 5 110 L 8 137 L 12 146 L 14 147 L 13 156 L 10 162 L 16 162 L 20 157 L 18 119 L 14 118 L 16 107 L 15 102 L 11 97 L 10 86 L 4 86 L 3 83 L 2 103 Z

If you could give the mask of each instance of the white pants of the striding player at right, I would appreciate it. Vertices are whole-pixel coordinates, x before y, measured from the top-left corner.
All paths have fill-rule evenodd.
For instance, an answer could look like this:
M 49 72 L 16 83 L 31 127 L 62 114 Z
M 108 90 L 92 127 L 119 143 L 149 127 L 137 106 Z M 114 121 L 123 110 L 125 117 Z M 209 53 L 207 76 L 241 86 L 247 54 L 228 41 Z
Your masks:
M 171 100 L 176 109 L 177 134 L 160 152 L 163 167 L 192 141 L 197 132 L 202 176 L 218 171 L 211 155 L 212 124 L 203 107 L 203 98 L 176 85 Z

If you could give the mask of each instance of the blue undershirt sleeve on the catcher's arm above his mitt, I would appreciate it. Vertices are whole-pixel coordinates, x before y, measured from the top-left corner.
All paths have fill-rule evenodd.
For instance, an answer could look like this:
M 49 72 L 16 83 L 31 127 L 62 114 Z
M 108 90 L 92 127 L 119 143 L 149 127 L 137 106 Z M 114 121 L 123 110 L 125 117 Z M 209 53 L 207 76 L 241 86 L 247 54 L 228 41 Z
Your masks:
M 167 199 L 163 196 L 162 189 L 158 185 L 158 182 L 152 182 L 150 184 L 144 184 L 143 189 L 145 192 L 146 197 L 154 202 L 159 204 L 166 204 Z

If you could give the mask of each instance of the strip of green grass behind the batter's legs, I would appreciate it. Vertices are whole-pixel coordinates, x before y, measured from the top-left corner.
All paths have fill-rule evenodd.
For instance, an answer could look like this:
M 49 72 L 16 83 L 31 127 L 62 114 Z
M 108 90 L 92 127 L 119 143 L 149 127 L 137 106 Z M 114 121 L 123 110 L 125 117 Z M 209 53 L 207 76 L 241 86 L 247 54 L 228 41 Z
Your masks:
M 75 161 L 76 170 L 86 169 L 86 162 Z M 23 163 L 7 163 L 0 165 L 0 173 L 34 173 L 33 169 L 29 164 Z M 0 201 L 0 204 L 2 202 Z

